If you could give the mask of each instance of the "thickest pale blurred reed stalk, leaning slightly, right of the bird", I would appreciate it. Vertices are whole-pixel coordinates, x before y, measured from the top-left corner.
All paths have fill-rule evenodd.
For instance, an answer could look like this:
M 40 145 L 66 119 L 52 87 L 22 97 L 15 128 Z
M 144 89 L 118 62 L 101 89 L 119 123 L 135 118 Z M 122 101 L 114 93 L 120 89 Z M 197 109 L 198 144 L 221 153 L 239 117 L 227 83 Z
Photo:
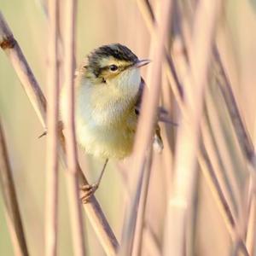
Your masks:
M 175 177 L 166 215 L 164 255 L 183 255 L 187 211 L 194 195 L 196 151 L 207 69 L 212 51 L 212 39 L 220 8 L 219 1 L 200 1 L 196 9 L 194 34 L 191 41 L 191 78 L 184 81 L 186 118 L 183 118 L 177 134 Z

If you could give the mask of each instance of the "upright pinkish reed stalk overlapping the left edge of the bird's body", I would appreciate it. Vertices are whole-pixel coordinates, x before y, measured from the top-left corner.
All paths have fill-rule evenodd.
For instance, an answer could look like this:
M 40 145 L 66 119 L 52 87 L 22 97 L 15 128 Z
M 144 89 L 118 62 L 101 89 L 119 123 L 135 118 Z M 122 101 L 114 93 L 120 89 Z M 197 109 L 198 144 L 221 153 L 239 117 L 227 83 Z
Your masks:
M 67 194 L 71 217 L 71 230 L 73 232 L 74 255 L 84 256 L 84 225 L 79 201 L 78 152 L 74 126 L 74 53 L 76 30 L 77 1 L 68 0 L 66 3 L 65 20 L 66 32 L 64 37 L 64 73 L 67 88 L 67 113 L 63 117 L 66 129 L 67 145 Z

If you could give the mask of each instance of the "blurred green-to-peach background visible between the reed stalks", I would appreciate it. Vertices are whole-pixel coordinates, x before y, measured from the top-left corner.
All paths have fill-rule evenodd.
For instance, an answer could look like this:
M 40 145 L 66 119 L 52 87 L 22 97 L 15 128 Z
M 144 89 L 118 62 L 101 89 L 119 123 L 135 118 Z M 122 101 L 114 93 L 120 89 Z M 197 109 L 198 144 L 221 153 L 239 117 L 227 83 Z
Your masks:
M 149 2 L 157 6 L 157 1 Z M 191 2 L 195 3 L 196 1 Z M 224 9 L 218 20 L 217 38 L 224 45 L 225 61 L 230 67 L 232 89 L 242 119 L 255 143 L 256 1 L 227 0 L 223 2 Z M 48 38 L 44 3 L 40 0 L 1 0 L 0 9 L 45 93 Z M 62 28 L 62 32 L 65 32 L 65 28 Z M 137 7 L 137 1 L 79 1 L 77 63 L 82 61 L 90 50 L 102 44 L 117 42 L 128 46 L 140 58 L 147 58 L 149 38 L 147 27 Z M 145 70 L 143 70 L 143 75 L 145 75 Z M 244 196 L 246 193 L 244 186 L 247 184 L 248 177 L 247 163 L 237 149 L 237 141 L 230 119 L 227 117 L 228 114 L 223 111 L 222 104 L 224 102 L 223 99 L 218 98 L 218 94 L 219 92 L 216 92 L 214 95 L 213 92 L 213 99 L 219 105 L 218 114 L 224 131 L 225 143 L 231 154 L 231 160 L 236 165 L 232 172 L 240 184 L 238 186 L 239 193 Z M 175 109 L 177 106 L 173 100 L 173 117 L 178 119 L 178 111 Z M 3 51 L 0 51 L 0 113 L 28 248 L 31 255 L 41 256 L 44 255 L 45 137 L 38 139 L 43 132 L 42 126 Z M 178 128 L 172 125 L 166 125 L 166 128 L 168 132 L 171 132 L 169 136 L 175 140 Z M 172 142 L 172 150 L 174 150 L 173 145 Z M 82 168 L 83 157 L 84 153 L 79 152 Z M 146 228 L 149 230 L 147 232 L 150 233 L 150 237 L 148 238 L 149 235 L 143 236 L 144 245 L 153 239 L 154 241 L 151 242 L 155 243 L 154 247 L 158 248 L 161 248 L 163 243 L 166 198 L 170 189 L 170 177 L 172 177 L 172 158 L 169 159 L 169 162 L 160 158 L 161 156 L 154 155 L 146 208 Z M 127 161 L 110 161 L 101 187 L 96 191 L 96 198 L 100 201 L 118 240 L 120 240 L 125 216 L 125 198 L 129 196 L 129 184 L 125 181 L 129 180 L 132 172 L 127 166 Z M 90 183 L 93 183 L 99 175 L 103 160 L 89 157 L 87 164 L 90 166 L 90 173 L 86 173 L 86 177 L 89 178 Z M 60 172 L 58 255 L 66 256 L 73 255 L 73 250 L 65 179 L 62 171 Z M 230 255 L 232 241 L 229 232 L 218 211 L 211 189 L 201 172 L 198 174 L 197 188 L 196 214 L 193 222 L 195 224 L 193 253 L 190 255 Z M 84 223 L 88 255 L 105 255 L 85 214 Z M 14 255 L 2 196 L 0 196 L 0 255 Z M 148 251 L 145 249 L 143 255 L 157 254 L 154 253 L 153 247 L 149 247 Z

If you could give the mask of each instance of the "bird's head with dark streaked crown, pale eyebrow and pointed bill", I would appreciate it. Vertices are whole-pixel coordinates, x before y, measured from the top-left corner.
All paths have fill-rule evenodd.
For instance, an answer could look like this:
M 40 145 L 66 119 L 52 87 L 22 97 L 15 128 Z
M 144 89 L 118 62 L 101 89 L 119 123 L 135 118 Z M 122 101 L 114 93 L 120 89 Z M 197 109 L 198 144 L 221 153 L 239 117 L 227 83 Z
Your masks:
M 103 45 L 88 55 L 85 77 L 92 84 L 109 84 L 125 93 L 125 90 L 138 88 L 141 82 L 139 67 L 148 63 L 148 60 L 139 60 L 122 44 Z

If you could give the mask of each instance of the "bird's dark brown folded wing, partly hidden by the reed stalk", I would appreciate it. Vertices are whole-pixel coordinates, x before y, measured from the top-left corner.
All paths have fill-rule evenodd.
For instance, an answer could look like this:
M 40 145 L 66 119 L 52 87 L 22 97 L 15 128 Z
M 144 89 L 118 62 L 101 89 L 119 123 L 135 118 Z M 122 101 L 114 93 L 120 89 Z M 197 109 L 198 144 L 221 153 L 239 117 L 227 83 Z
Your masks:
M 137 92 L 137 101 L 135 103 L 135 113 L 137 114 L 137 116 L 140 113 L 140 108 L 141 108 L 141 104 L 142 104 L 142 99 L 143 99 L 143 90 L 146 86 L 146 83 L 144 81 L 143 78 L 141 78 L 141 84 L 139 87 L 139 90 Z M 153 146 L 154 146 L 154 150 L 158 153 L 160 153 L 163 148 L 163 141 L 160 135 L 160 125 L 158 125 L 157 123 L 154 125 L 154 142 L 153 142 Z

